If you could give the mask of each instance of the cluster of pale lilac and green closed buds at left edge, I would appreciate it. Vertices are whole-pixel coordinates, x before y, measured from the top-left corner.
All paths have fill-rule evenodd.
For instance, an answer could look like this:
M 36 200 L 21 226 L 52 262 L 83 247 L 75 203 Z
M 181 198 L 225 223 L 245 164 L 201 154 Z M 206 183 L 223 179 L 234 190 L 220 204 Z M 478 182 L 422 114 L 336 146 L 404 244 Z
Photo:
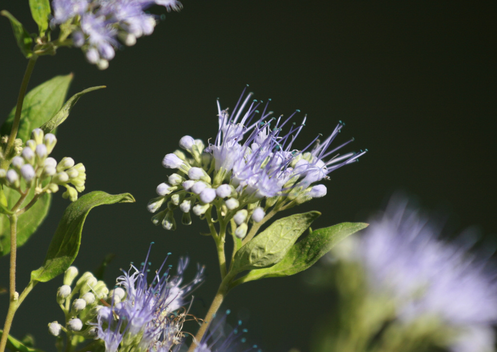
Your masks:
M 19 155 L 12 158 L 10 168 L 0 169 L 0 182 L 21 194 L 26 194 L 31 187 L 35 187 L 35 194 L 55 193 L 61 185 L 67 189 L 62 194 L 64 198 L 71 201 L 78 199 L 78 192 L 84 190 L 86 179 L 83 164 L 75 165 L 74 160 L 68 157 L 57 163 L 49 157 L 57 143 L 54 134 L 44 134 L 36 128 L 31 138 L 26 141 L 24 148 L 18 148 Z M 5 139 L 2 137 L 2 141 Z

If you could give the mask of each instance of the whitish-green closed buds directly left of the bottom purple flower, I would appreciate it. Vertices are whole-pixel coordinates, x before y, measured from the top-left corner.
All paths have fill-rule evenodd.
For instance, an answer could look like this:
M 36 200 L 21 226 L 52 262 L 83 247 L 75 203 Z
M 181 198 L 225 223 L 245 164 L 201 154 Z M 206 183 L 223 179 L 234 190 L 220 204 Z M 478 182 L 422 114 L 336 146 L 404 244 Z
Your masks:
M 97 280 L 90 272 L 83 273 L 71 287 L 76 276 L 78 269 L 70 266 L 64 274 L 64 285 L 57 290 L 57 303 L 64 311 L 66 324 L 54 321 L 48 324 L 48 331 L 54 336 L 64 331 L 66 334 L 93 339 L 97 336 L 97 328 L 89 323 L 96 322 L 98 311 L 108 304 L 107 301 L 117 302 L 124 297 L 125 291 L 122 288 L 109 291 L 105 282 Z

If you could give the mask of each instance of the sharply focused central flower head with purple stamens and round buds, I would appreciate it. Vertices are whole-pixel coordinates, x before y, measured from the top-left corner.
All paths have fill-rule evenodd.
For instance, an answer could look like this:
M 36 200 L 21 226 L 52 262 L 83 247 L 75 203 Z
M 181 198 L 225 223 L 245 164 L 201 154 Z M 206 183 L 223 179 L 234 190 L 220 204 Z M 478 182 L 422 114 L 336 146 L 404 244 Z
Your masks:
M 312 151 L 292 149 L 305 118 L 283 135 L 282 127 L 295 113 L 276 119 L 270 117 L 272 112 L 266 112 L 266 104 L 256 117 L 261 102 L 249 103 L 251 95 L 240 99 L 231 116 L 218 102 L 219 131 L 213 144 L 206 148 L 202 140 L 184 136 L 179 146 L 185 152 L 176 150 L 164 157 L 163 166 L 177 172 L 157 186 L 159 197 L 148 204 L 152 213 L 167 205 L 152 217 L 154 224 L 174 230 L 175 209 L 182 212 L 181 222 L 189 225 L 190 211 L 210 217 L 215 207 L 217 219 L 233 220 L 234 234 L 243 239 L 248 222 L 262 221 L 270 209 L 281 210 L 326 195 L 326 186 L 314 183 L 329 178 L 331 171 L 357 161 L 366 152 L 336 153 L 353 139 L 329 150 L 344 125 L 341 121 L 324 141 L 315 139 Z

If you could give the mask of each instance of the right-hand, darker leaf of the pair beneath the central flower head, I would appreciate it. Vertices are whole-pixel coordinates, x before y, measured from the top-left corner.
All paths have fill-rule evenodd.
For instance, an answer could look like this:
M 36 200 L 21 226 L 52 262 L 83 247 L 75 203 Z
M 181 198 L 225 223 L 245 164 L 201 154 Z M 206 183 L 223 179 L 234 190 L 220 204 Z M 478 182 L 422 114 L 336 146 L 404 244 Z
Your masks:
M 240 279 L 239 283 L 263 277 L 289 276 L 303 271 L 316 263 L 338 242 L 367 226 L 368 224 L 361 222 L 344 222 L 312 231 L 297 242 L 279 263 L 271 267 L 251 270 Z

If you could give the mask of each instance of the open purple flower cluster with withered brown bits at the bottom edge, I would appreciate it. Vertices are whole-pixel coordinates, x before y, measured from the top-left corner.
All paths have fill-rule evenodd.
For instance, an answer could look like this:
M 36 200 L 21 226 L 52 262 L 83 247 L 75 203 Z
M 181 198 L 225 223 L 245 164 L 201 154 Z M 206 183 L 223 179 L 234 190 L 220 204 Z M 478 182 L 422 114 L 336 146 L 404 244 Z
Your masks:
M 203 280 L 204 268 L 199 266 L 194 279 L 181 285 L 188 259 L 180 259 L 174 276 L 169 276 L 169 267 L 162 273 L 164 261 L 149 284 L 148 258 L 147 254 L 140 269 L 131 265 L 133 272 L 123 271 L 117 278 L 118 287 L 110 294 L 110 307 L 98 310 L 97 323 L 93 324 L 98 338 L 105 342 L 106 352 L 116 352 L 120 347 L 166 352 L 182 342 L 185 312 L 180 308 L 185 296 Z

